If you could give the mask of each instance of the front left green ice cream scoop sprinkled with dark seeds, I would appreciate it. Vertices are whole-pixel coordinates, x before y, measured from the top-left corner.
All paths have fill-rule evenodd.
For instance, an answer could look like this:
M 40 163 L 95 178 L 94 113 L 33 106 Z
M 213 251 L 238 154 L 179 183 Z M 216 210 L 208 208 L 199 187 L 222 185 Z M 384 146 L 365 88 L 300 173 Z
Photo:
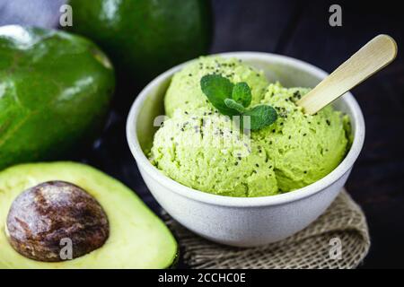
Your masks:
M 176 110 L 154 135 L 151 155 L 158 169 L 187 187 L 221 196 L 277 194 L 266 152 L 215 112 Z

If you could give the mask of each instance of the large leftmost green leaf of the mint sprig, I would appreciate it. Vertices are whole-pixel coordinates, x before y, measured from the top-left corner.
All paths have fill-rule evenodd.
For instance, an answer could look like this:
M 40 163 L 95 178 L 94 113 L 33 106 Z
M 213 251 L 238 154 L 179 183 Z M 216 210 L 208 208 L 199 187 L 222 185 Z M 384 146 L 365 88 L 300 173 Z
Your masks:
M 232 97 L 233 83 L 220 74 L 206 74 L 200 79 L 200 87 L 212 105 L 226 116 L 239 113 L 226 106 L 224 100 Z

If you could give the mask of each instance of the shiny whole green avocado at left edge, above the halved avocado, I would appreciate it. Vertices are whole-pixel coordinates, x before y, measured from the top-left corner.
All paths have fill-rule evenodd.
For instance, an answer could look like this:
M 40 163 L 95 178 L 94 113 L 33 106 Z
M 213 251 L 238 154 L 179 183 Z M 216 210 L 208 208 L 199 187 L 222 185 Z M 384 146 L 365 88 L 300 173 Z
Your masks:
M 63 31 L 0 27 L 0 170 L 92 140 L 114 91 L 108 57 Z

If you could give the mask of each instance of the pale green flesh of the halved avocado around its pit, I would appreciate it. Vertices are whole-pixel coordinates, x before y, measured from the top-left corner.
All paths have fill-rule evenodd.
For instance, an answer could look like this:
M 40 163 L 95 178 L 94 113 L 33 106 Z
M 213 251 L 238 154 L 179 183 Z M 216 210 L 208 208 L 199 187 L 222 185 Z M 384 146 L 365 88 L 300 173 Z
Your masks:
M 82 187 L 107 213 L 110 237 L 83 257 L 48 263 L 20 255 L 5 235 L 5 220 L 13 200 L 27 188 L 50 180 Z M 0 269 L 6 268 L 167 268 L 177 256 L 170 230 L 136 194 L 99 170 L 75 162 L 33 163 L 0 173 Z

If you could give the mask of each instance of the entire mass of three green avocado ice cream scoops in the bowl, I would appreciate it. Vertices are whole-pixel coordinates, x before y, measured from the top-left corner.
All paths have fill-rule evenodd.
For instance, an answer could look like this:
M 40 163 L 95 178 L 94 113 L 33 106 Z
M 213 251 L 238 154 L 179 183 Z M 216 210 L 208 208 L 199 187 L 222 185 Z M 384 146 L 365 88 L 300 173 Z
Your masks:
M 233 64 L 219 72 L 198 69 L 215 63 Z M 348 117 L 330 106 L 305 115 L 295 101 L 309 89 L 268 84 L 262 73 L 249 71 L 237 59 L 201 57 L 174 75 L 164 102 L 170 118 L 154 135 L 150 152 L 159 170 L 207 193 L 272 196 L 310 185 L 338 166 L 348 148 Z M 201 91 L 200 78 L 213 73 L 248 83 L 250 107 L 270 105 L 277 121 L 250 137 L 241 133 Z

